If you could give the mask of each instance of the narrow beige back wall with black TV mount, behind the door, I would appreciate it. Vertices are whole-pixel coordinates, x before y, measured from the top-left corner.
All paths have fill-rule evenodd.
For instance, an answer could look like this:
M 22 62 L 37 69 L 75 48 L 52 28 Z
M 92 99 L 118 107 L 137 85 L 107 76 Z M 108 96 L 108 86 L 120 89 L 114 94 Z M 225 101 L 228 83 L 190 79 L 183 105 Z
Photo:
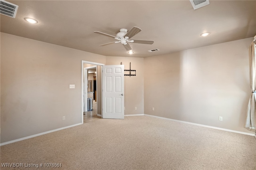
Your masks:
M 144 58 L 106 57 L 106 65 L 120 65 L 121 62 L 124 69 L 130 69 L 131 62 L 131 69 L 136 70 L 136 76 L 124 76 L 124 115 L 144 114 Z

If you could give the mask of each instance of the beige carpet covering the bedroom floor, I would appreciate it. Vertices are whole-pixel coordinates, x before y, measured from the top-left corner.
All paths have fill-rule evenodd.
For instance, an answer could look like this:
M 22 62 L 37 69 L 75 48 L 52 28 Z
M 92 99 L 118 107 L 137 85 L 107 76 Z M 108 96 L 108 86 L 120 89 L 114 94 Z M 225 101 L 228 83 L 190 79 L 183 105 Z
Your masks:
M 148 116 L 97 119 L 0 151 L 1 170 L 11 169 L 2 163 L 39 164 L 23 169 L 47 170 L 256 170 L 254 136 Z

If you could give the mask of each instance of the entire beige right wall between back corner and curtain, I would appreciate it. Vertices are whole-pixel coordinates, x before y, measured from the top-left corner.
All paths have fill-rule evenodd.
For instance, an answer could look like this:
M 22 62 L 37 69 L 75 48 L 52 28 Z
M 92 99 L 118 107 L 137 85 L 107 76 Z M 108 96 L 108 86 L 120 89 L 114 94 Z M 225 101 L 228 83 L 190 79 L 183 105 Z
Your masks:
M 243 126 L 252 40 L 144 58 L 144 113 L 249 132 Z

